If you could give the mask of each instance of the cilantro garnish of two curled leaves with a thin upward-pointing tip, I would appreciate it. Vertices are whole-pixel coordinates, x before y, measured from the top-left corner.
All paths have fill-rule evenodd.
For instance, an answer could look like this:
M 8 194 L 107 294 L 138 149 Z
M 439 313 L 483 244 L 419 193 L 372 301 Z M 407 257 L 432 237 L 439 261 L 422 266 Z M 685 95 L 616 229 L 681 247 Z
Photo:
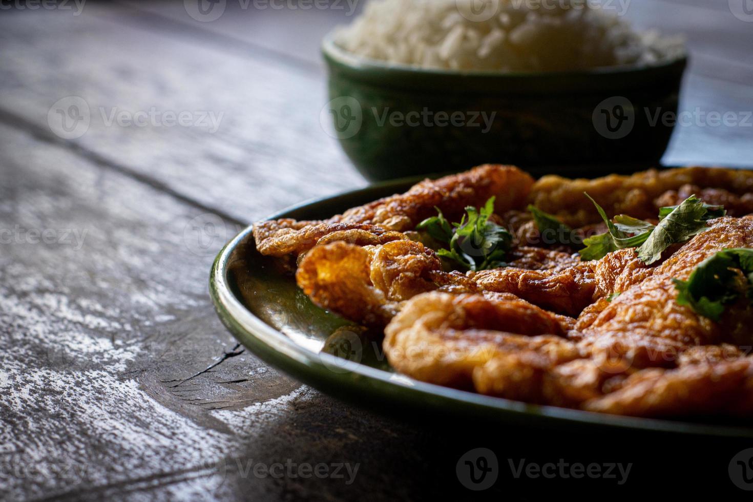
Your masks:
M 586 196 L 591 199 L 587 193 Z M 706 230 L 706 221 L 726 214 L 721 206 L 704 204 L 696 196 L 690 196 L 680 205 L 660 208 L 658 225 L 625 214 L 615 216 L 612 223 L 604 209 L 595 200 L 591 202 L 596 205 L 608 231 L 584 239 L 586 248 L 581 251 L 584 261 L 600 260 L 618 249 L 637 248 L 639 259 L 651 265 L 660 260 L 662 252 L 670 245 L 693 238 Z

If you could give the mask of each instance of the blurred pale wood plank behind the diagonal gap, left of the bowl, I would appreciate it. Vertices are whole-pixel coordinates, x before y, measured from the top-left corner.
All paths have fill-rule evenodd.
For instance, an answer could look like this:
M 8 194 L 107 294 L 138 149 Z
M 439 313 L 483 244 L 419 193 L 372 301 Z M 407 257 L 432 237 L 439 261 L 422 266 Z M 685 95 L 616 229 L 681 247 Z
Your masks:
M 365 183 L 319 123 L 321 78 L 123 26 L 106 12 L 87 5 L 70 19 L 54 11 L 3 16 L 0 108 L 47 127 L 50 106 L 81 96 L 90 125 L 76 145 L 243 221 Z M 111 120 L 139 111 L 156 118 L 145 126 Z M 202 112 L 212 113 L 218 129 L 158 125 L 181 112 L 202 124 L 211 123 Z

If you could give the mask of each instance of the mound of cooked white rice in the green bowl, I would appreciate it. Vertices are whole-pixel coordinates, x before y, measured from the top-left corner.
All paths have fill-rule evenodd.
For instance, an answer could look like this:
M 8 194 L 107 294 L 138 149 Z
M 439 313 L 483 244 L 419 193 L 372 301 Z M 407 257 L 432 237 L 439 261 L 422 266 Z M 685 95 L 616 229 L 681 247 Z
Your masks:
M 471 11 L 471 2 L 487 2 L 486 11 Z M 335 41 L 373 59 L 457 70 L 651 65 L 684 51 L 681 37 L 635 32 L 622 17 L 589 2 L 371 0 L 361 16 L 337 30 Z

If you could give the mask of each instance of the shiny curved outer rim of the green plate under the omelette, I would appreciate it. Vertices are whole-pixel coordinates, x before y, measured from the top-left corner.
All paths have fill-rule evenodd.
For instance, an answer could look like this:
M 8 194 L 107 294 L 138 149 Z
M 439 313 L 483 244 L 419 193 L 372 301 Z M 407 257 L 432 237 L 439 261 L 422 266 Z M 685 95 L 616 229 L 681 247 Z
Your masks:
M 316 211 L 316 206 L 336 202 L 343 197 L 368 196 L 379 190 L 395 187 L 399 190 L 406 184 L 425 176 L 401 178 L 371 184 L 356 190 L 345 190 L 331 196 L 309 199 L 292 205 L 282 211 L 270 214 L 264 220 L 291 218 L 291 214 L 302 210 Z M 368 199 L 373 200 L 373 199 Z M 368 201 L 365 201 L 368 202 Z M 661 418 L 640 418 L 626 415 L 609 415 L 587 412 L 579 409 L 559 406 L 543 406 L 521 401 L 507 400 L 501 397 L 484 396 L 468 391 L 443 387 L 426 382 L 419 382 L 410 377 L 389 373 L 369 367 L 355 361 L 345 361 L 331 354 L 316 353 L 297 344 L 285 333 L 277 330 L 248 310 L 233 294 L 227 278 L 233 251 L 247 239 L 253 239 L 253 225 L 249 225 L 227 242 L 215 257 L 209 274 L 209 296 L 222 323 L 233 336 L 264 362 L 291 375 L 304 385 L 310 385 L 325 394 L 334 395 L 356 405 L 385 397 L 386 402 L 395 400 L 406 405 L 424 407 L 430 403 L 432 408 L 443 412 L 465 415 L 457 409 L 447 409 L 450 404 L 460 404 L 461 409 L 470 406 L 481 413 L 479 418 L 493 419 L 506 415 L 511 421 L 531 419 L 550 422 L 555 427 L 606 427 L 623 431 L 647 431 L 676 434 L 692 434 L 714 437 L 753 437 L 753 427 L 726 424 L 709 424 L 702 422 L 672 421 Z M 337 367 L 337 371 L 331 370 Z M 346 387 L 343 388 L 342 385 Z M 371 394 L 366 399 L 358 396 L 361 391 Z M 374 394 L 376 393 L 376 394 Z M 362 397 L 362 396 L 361 396 Z M 417 401 L 414 401 L 419 398 Z M 373 408 L 373 406 L 369 406 Z

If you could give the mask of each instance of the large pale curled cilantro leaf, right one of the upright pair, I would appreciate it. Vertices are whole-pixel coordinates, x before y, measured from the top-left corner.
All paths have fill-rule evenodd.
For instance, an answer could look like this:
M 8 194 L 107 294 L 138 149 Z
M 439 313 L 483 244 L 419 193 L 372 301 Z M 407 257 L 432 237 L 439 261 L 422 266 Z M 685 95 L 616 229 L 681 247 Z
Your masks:
M 708 209 L 697 196 L 690 196 L 659 222 L 638 248 L 638 257 L 646 265 L 660 260 L 662 252 L 675 242 L 684 242 L 706 230 Z

